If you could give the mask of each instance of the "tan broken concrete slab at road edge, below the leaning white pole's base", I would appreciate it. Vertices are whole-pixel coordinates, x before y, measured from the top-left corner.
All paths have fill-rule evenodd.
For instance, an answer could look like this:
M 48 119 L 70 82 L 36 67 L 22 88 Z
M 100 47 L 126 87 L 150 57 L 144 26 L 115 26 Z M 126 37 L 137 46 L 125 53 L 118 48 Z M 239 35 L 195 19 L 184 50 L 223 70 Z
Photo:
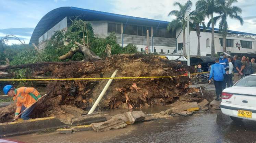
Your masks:
M 108 131 L 111 129 L 120 129 L 127 126 L 127 124 L 125 124 L 120 118 L 110 119 L 101 123 L 93 123 L 91 125 L 93 130 L 97 132 Z

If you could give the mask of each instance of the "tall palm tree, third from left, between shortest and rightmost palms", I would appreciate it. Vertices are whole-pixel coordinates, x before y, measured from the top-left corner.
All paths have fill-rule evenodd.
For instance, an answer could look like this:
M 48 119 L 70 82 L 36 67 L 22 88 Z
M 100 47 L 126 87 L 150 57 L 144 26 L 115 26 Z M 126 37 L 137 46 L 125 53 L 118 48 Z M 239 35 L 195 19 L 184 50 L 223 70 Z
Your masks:
M 196 10 L 201 13 L 204 13 L 210 19 L 211 24 L 211 57 L 215 55 L 215 47 L 214 47 L 214 13 L 220 13 L 220 7 L 217 5 L 216 0 L 199 0 L 196 2 Z M 208 25 L 209 27 L 210 25 Z

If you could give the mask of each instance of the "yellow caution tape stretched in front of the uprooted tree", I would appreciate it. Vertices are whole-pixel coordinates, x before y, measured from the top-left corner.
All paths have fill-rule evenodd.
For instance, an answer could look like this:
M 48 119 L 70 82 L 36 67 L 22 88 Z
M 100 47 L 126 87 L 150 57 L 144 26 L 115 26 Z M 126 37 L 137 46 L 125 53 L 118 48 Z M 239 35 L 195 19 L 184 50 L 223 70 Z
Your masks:
M 49 81 L 49 80 L 102 80 L 102 79 L 140 79 L 140 78 L 174 78 L 174 77 L 184 77 L 197 74 L 205 74 L 209 72 L 194 73 L 188 75 L 180 76 L 167 76 L 167 77 L 106 77 L 106 78 L 47 78 L 47 79 L 0 79 L 0 81 Z

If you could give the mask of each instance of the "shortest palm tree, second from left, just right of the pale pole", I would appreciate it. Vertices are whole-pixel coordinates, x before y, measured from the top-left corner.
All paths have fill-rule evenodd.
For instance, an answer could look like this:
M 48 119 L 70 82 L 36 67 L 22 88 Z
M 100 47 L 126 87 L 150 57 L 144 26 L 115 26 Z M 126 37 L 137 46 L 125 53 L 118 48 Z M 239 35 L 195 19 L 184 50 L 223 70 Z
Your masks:
M 196 27 L 196 35 L 197 35 L 197 57 L 199 58 L 201 55 L 200 51 L 200 25 L 203 25 L 205 30 L 205 15 L 201 12 L 192 11 L 190 14 L 190 19 L 192 20 L 193 27 Z

